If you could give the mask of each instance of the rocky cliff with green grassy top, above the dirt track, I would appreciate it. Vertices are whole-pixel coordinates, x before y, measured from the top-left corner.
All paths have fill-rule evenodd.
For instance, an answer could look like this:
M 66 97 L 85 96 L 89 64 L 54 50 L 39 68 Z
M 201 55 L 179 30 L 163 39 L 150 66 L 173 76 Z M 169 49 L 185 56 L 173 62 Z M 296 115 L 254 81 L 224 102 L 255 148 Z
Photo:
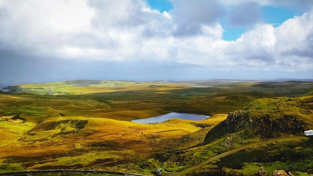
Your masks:
M 251 102 L 243 110 L 228 113 L 214 126 L 204 143 L 240 133 L 246 137 L 268 139 L 289 134 L 302 134 L 313 125 L 313 96 L 301 98 L 263 98 Z

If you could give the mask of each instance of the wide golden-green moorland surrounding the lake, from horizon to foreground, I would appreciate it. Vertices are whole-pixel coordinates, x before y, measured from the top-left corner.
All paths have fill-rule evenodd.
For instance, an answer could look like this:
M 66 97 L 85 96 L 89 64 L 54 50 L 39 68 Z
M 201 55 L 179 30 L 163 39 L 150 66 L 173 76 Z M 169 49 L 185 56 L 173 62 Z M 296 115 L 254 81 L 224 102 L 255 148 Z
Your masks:
M 6 88 L 0 91 L 0 172 L 155 174 L 161 167 L 174 175 L 264 141 L 182 174 L 255 175 L 261 166 L 268 173 L 313 174 L 313 139 L 303 135 L 313 128 L 310 81 L 72 80 Z M 130 121 L 169 112 L 210 117 Z

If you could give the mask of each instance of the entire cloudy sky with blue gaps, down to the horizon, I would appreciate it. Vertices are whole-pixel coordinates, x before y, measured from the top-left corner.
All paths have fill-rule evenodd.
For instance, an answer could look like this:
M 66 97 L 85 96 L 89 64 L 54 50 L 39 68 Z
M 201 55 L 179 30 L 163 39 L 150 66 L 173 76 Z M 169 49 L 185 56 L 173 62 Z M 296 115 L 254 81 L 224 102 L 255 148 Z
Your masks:
M 0 83 L 313 78 L 313 0 L 0 0 Z

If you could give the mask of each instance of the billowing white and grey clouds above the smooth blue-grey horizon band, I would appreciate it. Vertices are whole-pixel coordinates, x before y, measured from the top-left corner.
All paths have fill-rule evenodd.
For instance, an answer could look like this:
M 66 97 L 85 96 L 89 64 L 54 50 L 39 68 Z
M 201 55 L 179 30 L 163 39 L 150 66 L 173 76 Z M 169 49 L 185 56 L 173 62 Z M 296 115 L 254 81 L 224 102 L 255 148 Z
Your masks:
M 0 49 L 47 58 L 162 60 L 224 70 L 313 69 L 312 11 L 276 28 L 258 23 L 236 41 L 225 41 L 218 23 L 222 5 L 196 2 L 173 0 L 174 9 L 161 13 L 143 0 L 0 0 Z

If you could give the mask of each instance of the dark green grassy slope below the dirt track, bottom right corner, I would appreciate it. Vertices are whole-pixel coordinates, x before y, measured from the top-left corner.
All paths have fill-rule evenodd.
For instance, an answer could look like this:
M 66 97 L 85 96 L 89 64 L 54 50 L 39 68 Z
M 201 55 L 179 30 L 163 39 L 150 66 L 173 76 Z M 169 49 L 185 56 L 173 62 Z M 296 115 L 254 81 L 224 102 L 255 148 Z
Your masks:
M 312 138 L 299 136 L 249 147 L 215 160 L 187 175 L 257 175 L 263 166 L 267 174 L 276 169 L 294 175 L 311 175 L 313 169 Z

